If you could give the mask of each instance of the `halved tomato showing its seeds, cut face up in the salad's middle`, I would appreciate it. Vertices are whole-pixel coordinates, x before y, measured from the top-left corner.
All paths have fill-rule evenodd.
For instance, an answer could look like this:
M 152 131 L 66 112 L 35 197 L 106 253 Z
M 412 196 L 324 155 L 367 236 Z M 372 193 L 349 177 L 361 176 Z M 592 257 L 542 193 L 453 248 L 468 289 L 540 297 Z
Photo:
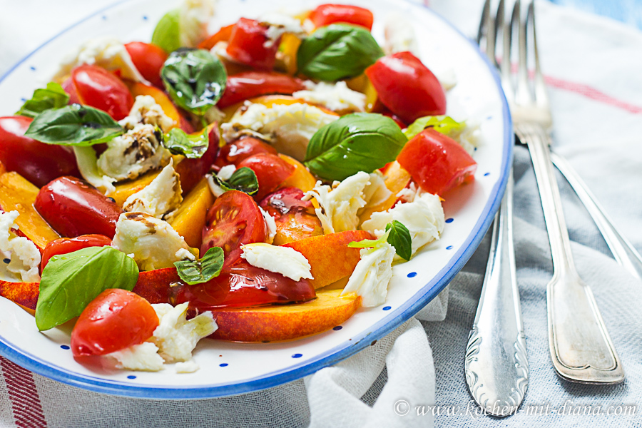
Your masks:
M 203 228 L 200 255 L 212 247 L 223 248 L 225 264 L 239 260 L 240 246 L 265 242 L 267 228 L 263 214 L 247 193 L 229 190 L 214 201 Z

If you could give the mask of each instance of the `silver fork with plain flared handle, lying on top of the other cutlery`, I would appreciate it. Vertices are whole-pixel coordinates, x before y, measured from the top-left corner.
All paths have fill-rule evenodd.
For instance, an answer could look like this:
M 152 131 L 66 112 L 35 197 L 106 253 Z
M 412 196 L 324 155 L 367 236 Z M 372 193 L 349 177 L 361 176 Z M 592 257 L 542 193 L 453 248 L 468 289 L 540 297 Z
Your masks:
M 531 1 L 526 20 L 521 19 L 517 0 L 511 26 L 504 31 L 504 60 L 501 77 L 509 100 L 516 135 L 525 143 L 533 161 L 537 185 L 549 232 L 553 278 L 546 287 L 549 347 L 554 368 L 572 382 L 614 384 L 624 380 L 622 363 L 598 310 L 593 292 L 579 277 L 571 255 L 561 197 L 555 180 L 549 133 L 552 127 L 546 86 L 539 66 L 535 36 L 535 9 Z M 532 34 L 535 76 L 534 94 L 529 86 L 527 36 Z M 511 91 L 511 37 L 518 34 L 519 66 L 516 88 Z

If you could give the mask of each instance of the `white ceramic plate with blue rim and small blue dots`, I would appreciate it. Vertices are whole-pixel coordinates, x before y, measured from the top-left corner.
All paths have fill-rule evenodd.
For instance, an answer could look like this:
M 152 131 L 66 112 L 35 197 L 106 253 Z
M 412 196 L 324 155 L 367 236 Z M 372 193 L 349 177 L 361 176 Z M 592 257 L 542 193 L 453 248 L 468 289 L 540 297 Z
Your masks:
M 291 3 L 221 1 L 211 29 Z M 312 9 L 319 3 L 299 1 L 297 7 Z M 437 74 L 452 70 L 457 76 L 457 86 L 448 93 L 448 114 L 481 123 L 474 183 L 459 188 L 444 202 L 448 220 L 442 239 L 394 267 L 386 303 L 361 309 L 343 325 L 302 340 L 267 344 L 203 340 L 194 352 L 200 370 L 176 374 L 171 366 L 148 373 L 78 364 L 69 350 L 70 327 L 38 332 L 34 317 L 0 298 L 0 354 L 46 377 L 98 392 L 157 399 L 239 394 L 290 382 L 350 357 L 412 317 L 452 280 L 491 224 L 510 169 L 513 136 L 499 78 L 472 41 L 428 9 L 392 0 L 350 3 L 374 12 L 372 32 L 380 42 L 386 17 L 392 11 L 404 14 L 417 33 L 424 63 Z M 44 86 L 61 58 L 81 41 L 97 36 L 147 41 L 158 19 L 176 4 L 175 0 L 124 1 L 61 32 L 0 78 L 0 114 L 13 113 L 34 89 Z M 0 265 L 4 267 L 1 261 Z

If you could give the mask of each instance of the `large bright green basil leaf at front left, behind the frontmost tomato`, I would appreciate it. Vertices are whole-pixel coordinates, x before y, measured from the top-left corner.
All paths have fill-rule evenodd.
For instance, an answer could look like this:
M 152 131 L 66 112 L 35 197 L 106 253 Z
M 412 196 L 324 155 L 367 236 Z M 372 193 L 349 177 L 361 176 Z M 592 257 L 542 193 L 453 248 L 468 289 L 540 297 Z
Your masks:
M 112 247 L 89 247 L 54 255 L 42 272 L 36 304 L 38 330 L 49 330 L 81 315 L 108 288 L 133 290 L 136 262 Z

